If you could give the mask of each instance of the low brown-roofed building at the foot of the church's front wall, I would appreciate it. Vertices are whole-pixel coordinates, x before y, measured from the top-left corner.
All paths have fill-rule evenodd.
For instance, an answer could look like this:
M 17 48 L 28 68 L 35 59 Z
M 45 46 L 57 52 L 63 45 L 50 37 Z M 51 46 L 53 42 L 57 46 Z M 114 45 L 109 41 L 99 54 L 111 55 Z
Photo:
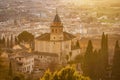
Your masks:
M 51 64 L 57 64 L 59 62 L 59 58 L 57 54 L 54 53 L 40 53 L 35 52 L 34 53 L 35 58 L 35 69 L 37 70 L 46 70 L 50 68 Z

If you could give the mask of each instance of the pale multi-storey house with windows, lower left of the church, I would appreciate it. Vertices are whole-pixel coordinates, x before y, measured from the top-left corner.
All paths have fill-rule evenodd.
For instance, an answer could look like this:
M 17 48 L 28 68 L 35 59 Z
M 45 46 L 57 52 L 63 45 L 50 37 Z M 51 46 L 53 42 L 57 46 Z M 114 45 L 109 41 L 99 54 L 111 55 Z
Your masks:
M 18 51 L 19 52 L 19 51 Z M 14 71 L 31 73 L 34 69 L 34 56 L 27 52 L 15 53 L 11 57 Z

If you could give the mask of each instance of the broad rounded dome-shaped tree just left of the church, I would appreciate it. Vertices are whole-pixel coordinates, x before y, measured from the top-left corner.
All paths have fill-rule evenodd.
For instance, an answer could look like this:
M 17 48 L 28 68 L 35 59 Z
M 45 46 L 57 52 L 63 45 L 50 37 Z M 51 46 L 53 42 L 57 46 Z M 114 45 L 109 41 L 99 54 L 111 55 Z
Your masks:
M 34 40 L 34 35 L 27 31 L 23 31 L 18 35 L 18 40 L 20 42 L 32 42 Z

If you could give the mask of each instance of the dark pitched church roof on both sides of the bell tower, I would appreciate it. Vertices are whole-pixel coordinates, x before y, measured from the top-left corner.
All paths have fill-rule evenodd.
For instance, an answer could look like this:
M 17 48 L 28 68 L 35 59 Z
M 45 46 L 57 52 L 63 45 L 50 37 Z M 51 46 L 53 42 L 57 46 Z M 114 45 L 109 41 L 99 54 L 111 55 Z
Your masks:
M 67 32 L 63 32 L 63 35 L 64 35 L 64 41 L 75 38 L 74 35 L 67 33 Z M 50 41 L 50 33 L 42 34 L 41 36 L 37 37 L 36 39 L 41 40 L 41 41 Z

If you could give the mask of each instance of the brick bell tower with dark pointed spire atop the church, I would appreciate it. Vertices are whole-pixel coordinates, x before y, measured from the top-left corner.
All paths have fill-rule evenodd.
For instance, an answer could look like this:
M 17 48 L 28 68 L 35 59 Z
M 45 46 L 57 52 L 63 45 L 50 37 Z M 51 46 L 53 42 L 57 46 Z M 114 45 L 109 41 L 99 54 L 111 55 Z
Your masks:
M 51 34 L 50 40 L 58 41 L 63 40 L 63 24 L 56 10 L 55 18 L 50 26 Z

